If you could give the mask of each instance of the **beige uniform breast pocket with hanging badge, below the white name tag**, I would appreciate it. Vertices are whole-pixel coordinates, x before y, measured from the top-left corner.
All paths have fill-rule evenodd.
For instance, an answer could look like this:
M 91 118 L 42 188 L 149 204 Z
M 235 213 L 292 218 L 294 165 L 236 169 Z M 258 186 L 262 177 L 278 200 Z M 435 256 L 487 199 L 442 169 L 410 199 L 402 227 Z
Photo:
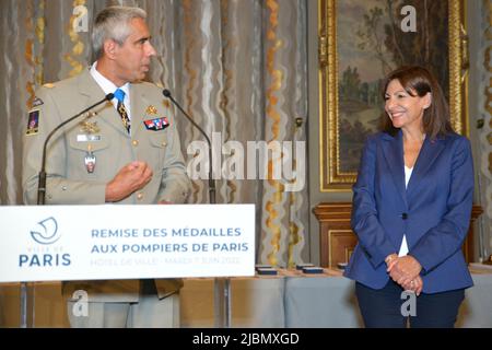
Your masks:
M 107 163 L 110 156 L 104 150 L 109 141 L 96 135 L 79 135 L 70 138 L 70 152 L 67 154 L 69 171 L 74 176 L 101 176 L 103 168 L 98 165 Z

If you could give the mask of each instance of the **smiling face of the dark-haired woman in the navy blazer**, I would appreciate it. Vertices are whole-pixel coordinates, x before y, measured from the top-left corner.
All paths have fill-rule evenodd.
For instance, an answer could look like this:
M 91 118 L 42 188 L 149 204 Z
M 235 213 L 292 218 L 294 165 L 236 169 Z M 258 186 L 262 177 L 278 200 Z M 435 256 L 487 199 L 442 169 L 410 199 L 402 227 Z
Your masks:
M 395 128 L 422 130 L 424 109 L 431 105 L 431 94 L 420 97 L 410 95 L 401 83 L 394 79 L 385 93 L 385 110 Z

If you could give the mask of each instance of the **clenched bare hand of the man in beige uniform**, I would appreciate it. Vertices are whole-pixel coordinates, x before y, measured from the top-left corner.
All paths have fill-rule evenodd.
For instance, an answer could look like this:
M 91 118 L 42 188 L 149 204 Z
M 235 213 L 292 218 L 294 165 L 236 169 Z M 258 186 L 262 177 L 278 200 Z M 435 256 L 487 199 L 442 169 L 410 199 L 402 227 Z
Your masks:
M 106 202 L 127 198 L 149 184 L 152 175 L 152 170 L 145 162 L 132 162 L 125 165 L 106 185 Z

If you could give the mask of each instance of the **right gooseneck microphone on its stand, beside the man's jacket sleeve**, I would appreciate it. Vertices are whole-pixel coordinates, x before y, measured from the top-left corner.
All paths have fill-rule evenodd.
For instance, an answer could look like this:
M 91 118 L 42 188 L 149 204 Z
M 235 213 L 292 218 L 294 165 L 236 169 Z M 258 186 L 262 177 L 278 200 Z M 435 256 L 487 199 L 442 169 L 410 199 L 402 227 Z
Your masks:
M 196 127 L 206 138 L 209 145 L 209 203 L 215 205 L 215 180 L 213 179 L 213 162 L 212 162 L 212 142 L 207 132 L 183 109 L 183 107 L 174 100 L 171 91 L 163 90 L 163 95 L 169 98 L 180 113 Z M 215 327 L 231 328 L 231 280 L 229 277 L 214 279 L 214 305 L 215 305 Z

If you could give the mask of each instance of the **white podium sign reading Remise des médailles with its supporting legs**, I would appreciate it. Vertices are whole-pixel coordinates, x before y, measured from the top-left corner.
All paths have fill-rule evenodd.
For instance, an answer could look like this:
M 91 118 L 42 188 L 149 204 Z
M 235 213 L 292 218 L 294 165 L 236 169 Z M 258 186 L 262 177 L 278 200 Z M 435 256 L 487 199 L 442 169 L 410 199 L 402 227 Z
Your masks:
M 230 326 L 230 277 L 255 275 L 254 205 L 0 207 L 0 283 L 215 278 L 216 326 Z M 229 320 L 227 320 L 229 318 Z

